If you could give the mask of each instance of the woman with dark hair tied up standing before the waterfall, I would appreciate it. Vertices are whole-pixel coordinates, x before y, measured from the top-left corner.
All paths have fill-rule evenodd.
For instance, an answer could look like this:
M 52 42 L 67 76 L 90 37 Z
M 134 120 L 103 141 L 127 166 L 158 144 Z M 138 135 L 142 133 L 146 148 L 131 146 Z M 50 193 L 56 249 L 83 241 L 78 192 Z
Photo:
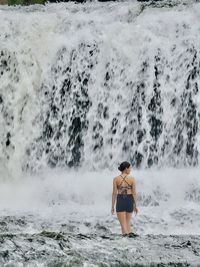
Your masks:
M 136 207 L 136 181 L 130 176 L 131 164 L 124 161 L 118 167 L 121 174 L 113 179 L 112 193 L 112 214 L 114 214 L 115 201 L 117 217 L 121 225 L 122 235 L 133 237 L 135 234 L 131 231 L 131 216 L 133 211 L 137 215 Z

